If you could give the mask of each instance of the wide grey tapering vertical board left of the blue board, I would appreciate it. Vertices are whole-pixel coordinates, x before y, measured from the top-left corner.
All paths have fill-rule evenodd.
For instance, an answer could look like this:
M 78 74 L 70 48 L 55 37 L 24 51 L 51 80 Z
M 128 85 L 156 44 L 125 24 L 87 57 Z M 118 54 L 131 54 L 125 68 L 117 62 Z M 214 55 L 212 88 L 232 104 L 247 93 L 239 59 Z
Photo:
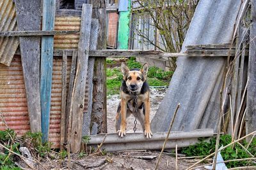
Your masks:
M 41 2 L 15 0 L 19 31 L 40 30 Z M 20 36 L 22 71 L 28 103 L 31 132 L 41 131 L 40 108 L 40 37 Z

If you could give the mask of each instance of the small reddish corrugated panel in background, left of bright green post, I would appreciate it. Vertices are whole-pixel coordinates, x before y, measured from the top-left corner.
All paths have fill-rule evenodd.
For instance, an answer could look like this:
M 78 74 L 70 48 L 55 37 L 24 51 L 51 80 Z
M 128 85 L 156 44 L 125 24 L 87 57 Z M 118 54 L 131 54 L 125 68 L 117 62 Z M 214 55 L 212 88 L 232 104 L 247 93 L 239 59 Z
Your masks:
M 118 13 L 108 13 L 108 46 L 116 48 Z

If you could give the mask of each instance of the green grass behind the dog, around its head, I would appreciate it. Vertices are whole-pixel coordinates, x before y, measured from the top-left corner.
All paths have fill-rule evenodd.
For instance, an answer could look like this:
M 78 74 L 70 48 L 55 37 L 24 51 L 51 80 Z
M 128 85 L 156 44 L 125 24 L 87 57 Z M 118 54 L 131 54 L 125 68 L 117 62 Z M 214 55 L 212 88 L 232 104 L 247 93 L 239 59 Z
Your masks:
M 129 69 L 141 68 L 140 62 L 136 62 L 135 57 L 131 57 L 127 60 L 127 66 Z M 168 86 L 172 78 L 172 71 L 163 71 L 158 67 L 150 67 L 148 69 L 148 84 L 150 86 Z M 123 75 L 120 67 L 115 67 L 113 69 L 107 69 L 107 94 L 119 94 L 120 85 L 123 80 Z

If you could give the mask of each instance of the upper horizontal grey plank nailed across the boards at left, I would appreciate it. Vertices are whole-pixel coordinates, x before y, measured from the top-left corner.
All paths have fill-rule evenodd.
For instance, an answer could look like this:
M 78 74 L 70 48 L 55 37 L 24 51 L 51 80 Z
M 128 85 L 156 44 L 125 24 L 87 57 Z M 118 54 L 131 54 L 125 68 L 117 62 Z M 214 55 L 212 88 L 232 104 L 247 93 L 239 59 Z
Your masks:
M 54 36 L 63 34 L 76 34 L 79 30 L 74 31 L 1 31 L 2 36 Z

